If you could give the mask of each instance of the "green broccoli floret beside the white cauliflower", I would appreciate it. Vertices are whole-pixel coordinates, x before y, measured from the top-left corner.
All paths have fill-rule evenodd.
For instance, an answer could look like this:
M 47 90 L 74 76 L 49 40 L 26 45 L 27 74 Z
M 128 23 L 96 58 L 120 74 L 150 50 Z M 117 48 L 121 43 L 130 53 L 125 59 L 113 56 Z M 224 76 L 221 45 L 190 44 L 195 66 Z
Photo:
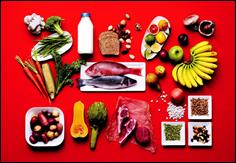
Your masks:
M 64 33 L 61 29 L 62 20 L 59 16 L 51 16 L 47 19 L 45 28 L 50 32 L 57 32 L 59 35 L 62 35 Z

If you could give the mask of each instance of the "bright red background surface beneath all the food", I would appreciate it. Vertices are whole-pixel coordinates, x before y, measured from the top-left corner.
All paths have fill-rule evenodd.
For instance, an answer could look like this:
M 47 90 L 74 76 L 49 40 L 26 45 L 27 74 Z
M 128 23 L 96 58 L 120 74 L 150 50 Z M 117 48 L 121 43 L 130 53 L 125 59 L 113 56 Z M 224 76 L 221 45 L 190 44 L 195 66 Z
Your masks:
M 235 160 L 235 3 L 234 2 L 1 2 L 1 155 L 2 161 L 233 161 Z M 169 19 L 172 33 L 165 45 L 170 49 L 177 45 L 180 33 L 189 36 L 189 45 L 184 47 L 185 60 L 189 58 L 189 49 L 194 44 L 206 40 L 199 33 L 188 31 L 183 26 L 183 19 L 192 13 L 200 15 L 200 19 L 210 19 L 216 24 L 215 35 L 207 40 L 218 52 L 218 65 L 213 79 L 202 88 L 195 91 L 184 89 L 186 95 L 211 95 L 213 102 L 213 146 L 211 148 L 191 148 L 161 146 L 161 121 L 166 121 L 167 104 L 151 103 L 160 95 L 158 92 L 146 88 L 145 92 L 111 92 L 111 93 L 85 93 L 76 88 L 64 87 L 55 101 L 49 105 L 41 97 L 35 86 L 25 76 L 15 56 L 23 59 L 30 56 L 34 40 L 47 36 L 32 36 L 24 24 L 24 16 L 37 13 L 47 18 L 59 15 L 65 20 L 62 22 L 64 30 L 72 34 L 74 43 L 71 50 L 64 54 L 63 62 L 71 63 L 79 57 L 77 53 L 77 25 L 80 14 L 84 11 L 91 13 L 95 28 L 95 52 L 89 61 L 113 60 L 131 61 L 128 55 L 117 58 L 103 57 L 98 48 L 98 35 L 109 25 L 117 25 L 129 13 L 131 20 L 128 27 L 132 32 L 132 48 L 130 53 L 136 56 L 135 61 L 146 62 L 146 72 L 154 71 L 154 67 L 161 64 L 167 69 L 167 75 L 161 79 L 160 84 L 168 94 L 179 87 L 171 76 L 173 65 L 161 62 L 155 58 L 146 61 L 140 53 L 140 45 L 145 28 L 150 21 L 158 15 Z M 134 24 L 140 23 L 142 31 L 134 30 Z M 55 75 L 54 65 L 53 74 Z M 73 79 L 80 75 L 76 74 Z M 143 150 L 137 145 L 128 142 L 120 147 L 118 142 L 108 142 L 105 130 L 99 135 L 95 151 L 89 149 L 89 140 L 76 142 L 70 135 L 72 123 L 73 104 L 81 100 L 85 104 L 85 111 L 94 101 L 103 101 L 108 108 L 109 120 L 114 112 L 118 96 L 145 100 L 150 104 L 152 124 L 156 135 L 157 150 L 155 154 Z M 187 103 L 187 96 L 185 98 Z M 25 141 L 25 114 L 34 106 L 56 106 L 62 109 L 65 115 L 65 140 L 61 148 L 55 150 L 32 150 Z M 159 112 L 158 109 L 161 111 Z M 186 122 L 187 111 L 182 119 Z M 88 124 L 87 118 L 86 123 Z M 90 132 L 89 132 L 90 135 Z M 186 132 L 187 144 L 187 132 Z

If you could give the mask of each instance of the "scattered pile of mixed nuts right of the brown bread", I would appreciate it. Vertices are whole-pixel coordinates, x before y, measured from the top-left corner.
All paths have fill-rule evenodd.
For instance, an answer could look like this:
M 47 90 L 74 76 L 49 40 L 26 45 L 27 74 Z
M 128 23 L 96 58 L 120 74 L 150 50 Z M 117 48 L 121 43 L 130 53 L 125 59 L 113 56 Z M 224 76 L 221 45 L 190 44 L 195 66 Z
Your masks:
M 121 45 L 121 54 L 128 54 L 129 50 L 131 49 L 131 32 L 129 29 L 126 29 L 127 21 L 130 20 L 130 15 L 125 14 L 125 19 L 122 19 L 120 23 L 113 27 L 112 25 L 108 26 L 108 31 L 113 31 L 118 34 L 120 45 Z M 140 31 L 141 27 L 140 24 L 135 24 L 136 31 Z M 130 54 L 130 59 L 134 59 L 134 55 Z

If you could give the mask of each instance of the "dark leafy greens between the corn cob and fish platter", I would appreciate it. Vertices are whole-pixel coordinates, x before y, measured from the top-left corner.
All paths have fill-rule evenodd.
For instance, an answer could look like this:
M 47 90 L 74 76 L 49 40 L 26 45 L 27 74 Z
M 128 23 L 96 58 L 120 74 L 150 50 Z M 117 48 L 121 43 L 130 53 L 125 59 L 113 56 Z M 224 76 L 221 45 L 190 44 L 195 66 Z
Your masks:
M 72 64 L 64 64 L 62 65 L 61 56 L 53 51 L 52 56 L 55 61 L 55 68 L 57 73 L 57 80 L 56 80 L 56 94 L 62 89 L 65 85 L 72 86 L 74 84 L 73 80 L 70 79 L 71 76 L 80 71 L 80 66 L 85 65 L 85 60 L 76 60 L 72 62 Z

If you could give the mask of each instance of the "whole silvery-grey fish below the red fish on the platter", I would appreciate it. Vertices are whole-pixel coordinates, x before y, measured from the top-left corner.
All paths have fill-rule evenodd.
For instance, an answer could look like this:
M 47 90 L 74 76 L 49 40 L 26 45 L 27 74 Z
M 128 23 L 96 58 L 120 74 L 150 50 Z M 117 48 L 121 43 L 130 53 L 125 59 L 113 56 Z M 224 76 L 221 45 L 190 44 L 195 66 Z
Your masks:
M 127 76 L 100 76 L 93 79 L 76 79 L 77 87 L 94 86 L 103 89 L 122 89 L 134 86 L 137 81 Z

